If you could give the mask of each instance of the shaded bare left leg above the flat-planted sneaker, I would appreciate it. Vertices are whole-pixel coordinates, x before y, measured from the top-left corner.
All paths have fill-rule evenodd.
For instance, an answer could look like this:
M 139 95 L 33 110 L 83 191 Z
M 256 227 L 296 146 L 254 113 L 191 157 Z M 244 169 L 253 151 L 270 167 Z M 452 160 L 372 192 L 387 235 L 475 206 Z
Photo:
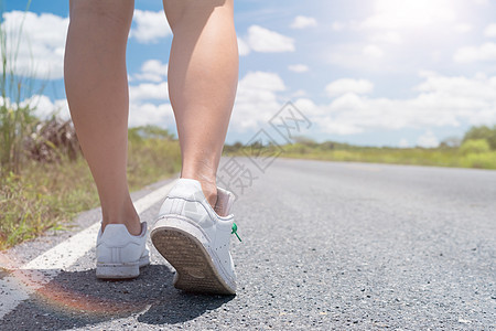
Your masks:
M 65 87 L 71 116 L 101 203 L 103 226 L 141 232 L 126 175 L 126 44 L 133 0 L 71 0 Z

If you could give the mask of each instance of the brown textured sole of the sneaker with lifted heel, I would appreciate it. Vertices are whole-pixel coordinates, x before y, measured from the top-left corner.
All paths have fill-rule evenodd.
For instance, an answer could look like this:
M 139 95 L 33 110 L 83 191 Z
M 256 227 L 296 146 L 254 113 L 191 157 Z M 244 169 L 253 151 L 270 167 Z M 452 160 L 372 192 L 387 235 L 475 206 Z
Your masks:
M 190 292 L 236 293 L 224 281 L 203 244 L 188 232 L 174 226 L 158 226 L 150 236 L 159 253 L 176 270 L 175 288 Z

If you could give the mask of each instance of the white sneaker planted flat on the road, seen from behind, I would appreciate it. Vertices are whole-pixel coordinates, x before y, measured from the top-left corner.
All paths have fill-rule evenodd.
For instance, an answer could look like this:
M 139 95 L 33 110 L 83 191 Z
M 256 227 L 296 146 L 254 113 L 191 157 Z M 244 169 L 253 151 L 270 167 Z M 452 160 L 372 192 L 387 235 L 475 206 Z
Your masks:
M 140 267 L 150 264 L 147 248 L 147 222 L 141 234 L 133 236 L 123 224 L 107 224 L 97 238 L 97 278 L 125 279 L 140 276 Z

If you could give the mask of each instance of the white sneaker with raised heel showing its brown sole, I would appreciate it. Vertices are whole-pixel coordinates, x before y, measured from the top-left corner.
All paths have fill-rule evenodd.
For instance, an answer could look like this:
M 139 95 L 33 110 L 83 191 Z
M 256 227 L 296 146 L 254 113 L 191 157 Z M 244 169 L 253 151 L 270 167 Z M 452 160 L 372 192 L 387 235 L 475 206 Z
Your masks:
M 217 189 L 212 209 L 202 184 L 180 179 L 169 192 L 151 232 L 162 256 L 176 269 L 174 287 L 186 291 L 236 293 L 236 274 L 229 253 L 234 215 L 233 193 Z

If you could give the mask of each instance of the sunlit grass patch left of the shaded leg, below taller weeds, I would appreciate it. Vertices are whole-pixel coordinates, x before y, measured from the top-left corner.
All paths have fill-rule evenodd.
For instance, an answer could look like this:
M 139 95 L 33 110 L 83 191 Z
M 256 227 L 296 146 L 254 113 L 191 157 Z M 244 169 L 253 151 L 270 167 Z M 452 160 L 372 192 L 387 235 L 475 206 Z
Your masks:
M 97 205 L 98 196 L 83 159 L 25 164 L 0 188 L 0 249 L 65 226 L 80 211 Z

